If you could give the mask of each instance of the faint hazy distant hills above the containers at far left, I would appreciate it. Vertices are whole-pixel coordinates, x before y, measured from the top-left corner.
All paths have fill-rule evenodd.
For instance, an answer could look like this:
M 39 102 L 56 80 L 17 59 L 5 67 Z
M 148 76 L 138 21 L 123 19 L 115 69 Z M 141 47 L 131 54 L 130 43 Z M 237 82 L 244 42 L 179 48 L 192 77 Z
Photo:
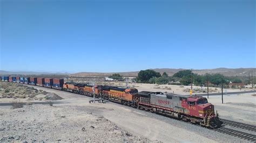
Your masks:
M 5 71 L 0 70 L 0 75 L 69 75 L 70 73 L 48 73 L 33 71 Z

